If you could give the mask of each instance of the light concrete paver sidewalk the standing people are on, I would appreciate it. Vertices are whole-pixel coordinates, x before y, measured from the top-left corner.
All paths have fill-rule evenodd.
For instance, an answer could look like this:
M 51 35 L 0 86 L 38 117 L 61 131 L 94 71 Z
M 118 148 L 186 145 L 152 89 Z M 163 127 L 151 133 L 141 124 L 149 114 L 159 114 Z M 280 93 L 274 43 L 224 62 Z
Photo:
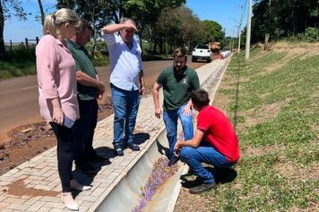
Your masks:
M 219 75 L 228 60 L 214 60 L 198 68 L 196 71 L 201 84 L 205 86 Z M 160 102 L 162 100 L 160 92 Z M 165 128 L 163 120 L 155 118 L 152 96 L 142 98 L 134 131 L 135 142 L 141 151 L 125 149 L 125 155 L 119 157 L 113 154 L 113 119 L 111 115 L 99 121 L 93 142 L 98 154 L 109 157 L 111 163 L 102 165 L 96 175 L 73 171 L 76 180 L 92 185 L 92 190 L 76 193 L 75 200 L 80 211 L 94 211 L 98 208 L 99 203 L 125 177 Z M 0 211 L 70 211 L 61 202 L 61 190 L 56 147 L 53 147 L 0 176 Z

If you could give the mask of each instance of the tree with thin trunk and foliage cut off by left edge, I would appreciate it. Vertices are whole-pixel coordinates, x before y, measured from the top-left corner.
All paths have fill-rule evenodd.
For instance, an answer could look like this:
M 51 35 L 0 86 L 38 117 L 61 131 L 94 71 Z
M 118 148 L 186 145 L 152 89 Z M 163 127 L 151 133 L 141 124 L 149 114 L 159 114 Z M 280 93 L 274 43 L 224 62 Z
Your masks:
M 0 1 L 0 60 L 4 60 L 4 21 L 15 15 L 20 20 L 25 21 L 27 13 L 23 11 L 19 0 L 2 0 Z

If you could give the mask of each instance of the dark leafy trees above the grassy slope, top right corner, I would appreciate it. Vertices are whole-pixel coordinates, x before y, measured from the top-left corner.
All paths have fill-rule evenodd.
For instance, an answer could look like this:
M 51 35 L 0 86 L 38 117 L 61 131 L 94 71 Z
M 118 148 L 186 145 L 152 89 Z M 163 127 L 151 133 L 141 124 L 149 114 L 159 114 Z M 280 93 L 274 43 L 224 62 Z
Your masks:
M 253 8 L 252 40 L 279 40 L 318 27 L 318 0 L 257 0 Z

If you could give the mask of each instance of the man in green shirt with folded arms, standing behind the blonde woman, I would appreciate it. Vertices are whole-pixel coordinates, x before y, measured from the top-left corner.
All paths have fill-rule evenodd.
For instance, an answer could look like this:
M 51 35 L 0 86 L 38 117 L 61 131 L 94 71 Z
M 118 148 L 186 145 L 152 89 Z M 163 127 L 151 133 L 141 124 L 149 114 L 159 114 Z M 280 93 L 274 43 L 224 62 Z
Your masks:
M 78 102 L 80 119 L 74 124 L 76 142 L 74 146 L 74 160 L 76 167 L 83 172 L 97 172 L 94 162 L 107 160 L 97 155 L 92 147 L 94 129 L 97 126 L 99 104 L 105 92 L 105 85 L 91 62 L 91 56 L 85 44 L 91 38 L 91 25 L 82 20 L 82 31 L 79 31 L 71 40 L 67 40 L 68 49 L 71 51 L 75 66 L 78 89 Z

